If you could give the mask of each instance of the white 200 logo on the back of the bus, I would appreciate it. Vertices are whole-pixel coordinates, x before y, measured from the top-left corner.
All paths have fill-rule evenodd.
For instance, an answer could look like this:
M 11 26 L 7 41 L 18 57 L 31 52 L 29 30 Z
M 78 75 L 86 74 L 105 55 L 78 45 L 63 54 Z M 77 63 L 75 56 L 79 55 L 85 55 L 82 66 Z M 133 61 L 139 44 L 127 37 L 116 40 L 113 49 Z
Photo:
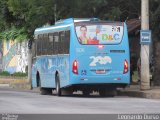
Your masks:
M 109 56 L 91 56 L 90 59 L 93 59 L 93 61 L 90 63 L 89 66 L 96 66 L 97 63 L 101 64 L 101 65 L 105 65 L 107 63 L 112 63 L 112 59 Z

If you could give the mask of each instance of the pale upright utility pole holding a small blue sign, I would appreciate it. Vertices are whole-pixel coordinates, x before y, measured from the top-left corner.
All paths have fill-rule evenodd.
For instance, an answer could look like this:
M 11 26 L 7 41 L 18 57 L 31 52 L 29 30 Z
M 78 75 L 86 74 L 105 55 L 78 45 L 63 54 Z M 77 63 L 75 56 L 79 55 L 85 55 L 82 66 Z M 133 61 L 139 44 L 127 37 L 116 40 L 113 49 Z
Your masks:
M 141 0 L 141 30 L 149 30 L 149 0 Z M 141 44 L 141 90 L 150 89 L 149 45 Z

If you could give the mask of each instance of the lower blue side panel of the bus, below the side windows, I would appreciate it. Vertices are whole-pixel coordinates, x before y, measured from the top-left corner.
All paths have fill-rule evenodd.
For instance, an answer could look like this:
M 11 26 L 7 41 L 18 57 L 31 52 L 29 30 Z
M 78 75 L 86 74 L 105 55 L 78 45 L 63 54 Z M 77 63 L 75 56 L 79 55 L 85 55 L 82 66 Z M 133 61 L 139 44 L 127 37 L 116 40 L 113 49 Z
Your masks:
M 32 84 L 37 86 L 36 74 L 39 72 L 41 87 L 55 88 L 55 74 L 59 73 L 61 85 L 69 81 L 69 55 L 44 56 L 38 58 L 32 67 Z

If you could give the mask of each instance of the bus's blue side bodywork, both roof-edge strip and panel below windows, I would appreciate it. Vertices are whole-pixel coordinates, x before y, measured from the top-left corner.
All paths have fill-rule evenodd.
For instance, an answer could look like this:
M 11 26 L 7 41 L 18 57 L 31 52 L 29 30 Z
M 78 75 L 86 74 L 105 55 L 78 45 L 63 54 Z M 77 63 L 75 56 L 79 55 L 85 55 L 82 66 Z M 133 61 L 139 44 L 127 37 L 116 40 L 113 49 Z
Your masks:
M 48 34 L 59 31 L 70 30 L 73 24 L 73 19 L 68 19 L 65 24 L 51 26 L 47 28 L 39 28 L 35 31 L 35 36 L 39 34 Z M 37 73 L 39 73 L 41 87 L 55 88 L 56 72 L 60 77 L 60 85 L 66 86 L 69 84 L 69 54 L 57 54 L 38 56 L 34 58 L 32 65 L 32 87 L 37 86 Z M 60 86 L 60 87 L 61 87 Z

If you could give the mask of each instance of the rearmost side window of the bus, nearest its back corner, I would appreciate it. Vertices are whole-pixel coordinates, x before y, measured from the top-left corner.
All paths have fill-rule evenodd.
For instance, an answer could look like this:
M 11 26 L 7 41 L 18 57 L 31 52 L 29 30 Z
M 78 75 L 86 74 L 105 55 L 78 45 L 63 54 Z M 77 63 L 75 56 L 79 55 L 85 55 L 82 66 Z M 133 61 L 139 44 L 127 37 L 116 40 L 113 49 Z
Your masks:
M 65 54 L 69 54 L 70 48 L 70 30 L 65 31 Z

